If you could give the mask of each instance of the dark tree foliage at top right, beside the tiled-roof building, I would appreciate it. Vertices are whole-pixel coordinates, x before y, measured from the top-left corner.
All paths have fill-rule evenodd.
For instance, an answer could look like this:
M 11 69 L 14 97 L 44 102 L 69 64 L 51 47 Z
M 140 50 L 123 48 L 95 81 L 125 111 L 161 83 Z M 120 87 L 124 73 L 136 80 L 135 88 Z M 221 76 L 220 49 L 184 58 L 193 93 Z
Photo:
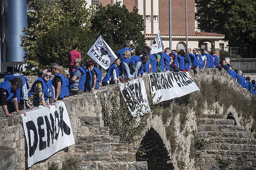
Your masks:
M 199 29 L 225 34 L 229 46 L 256 46 L 255 0 L 196 0 L 195 2 Z

